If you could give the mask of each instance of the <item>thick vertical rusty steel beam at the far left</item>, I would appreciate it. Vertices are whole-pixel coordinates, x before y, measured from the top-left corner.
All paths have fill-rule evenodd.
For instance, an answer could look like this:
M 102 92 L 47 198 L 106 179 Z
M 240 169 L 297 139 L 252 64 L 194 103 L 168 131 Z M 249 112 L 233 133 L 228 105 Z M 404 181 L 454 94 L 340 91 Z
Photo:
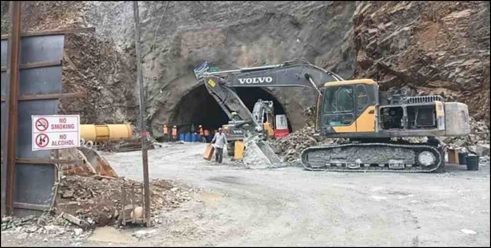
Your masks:
M 20 38 L 21 38 L 21 16 L 22 2 L 10 2 L 10 17 L 11 29 L 9 35 L 9 55 L 7 76 L 9 78 L 7 96 L 8 114 L 7 114 L 7 199 L 5 215 L 14 213 L 14 187 L 15 187 L 15 162 L 16 162 L 16 146 L 17 146 L 17 114 L 19 104 L 19 66 L 20 66 Z

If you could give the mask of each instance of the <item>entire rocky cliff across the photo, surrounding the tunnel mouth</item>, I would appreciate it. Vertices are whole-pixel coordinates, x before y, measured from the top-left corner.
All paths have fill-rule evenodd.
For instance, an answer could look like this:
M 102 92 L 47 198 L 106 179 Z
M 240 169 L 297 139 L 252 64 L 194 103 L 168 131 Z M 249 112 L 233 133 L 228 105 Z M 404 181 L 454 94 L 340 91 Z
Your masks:
M 3 33 L 5 9 L 2 2 Z M 24 13 L 24 30 L 96 28 L 67 38 L 65 89 L 88 97 L 63 101 L 64 112 L 81 113 L 85 122 L 136 123 L 131 2 L 26 2 Z M 489 120 L 489 2 L 140 2 L 140 18 L 155 136 L 164 123 L 205 111 L 206 92 L 192 74 L 205 60 L 233 69 L 304 57 L 345 78 L 376 79 L 383 89 L 478 102 L 485 111 L 471 106 L 472 114 Z M 305 125 L 315 92 L 264 91 L 294 130 Z

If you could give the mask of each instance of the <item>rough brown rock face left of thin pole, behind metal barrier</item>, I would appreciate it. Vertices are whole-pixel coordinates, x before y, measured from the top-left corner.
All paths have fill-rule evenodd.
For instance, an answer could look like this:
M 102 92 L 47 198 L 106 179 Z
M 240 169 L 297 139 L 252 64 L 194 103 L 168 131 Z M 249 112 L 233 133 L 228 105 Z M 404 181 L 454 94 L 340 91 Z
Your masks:
M 2 33 L 9 22 L 2 2 Z M 39 31 L 99 25 L 90 23 L 91 2 L 24 2 L 22 30 Z M 117 15 L 111 12 L 108 15 Z M 91 20 L 91 19 L 90 19 Z M 103 24 L 101 24 L 103 25 Z M 5 25 L 8 28 L 8 25 Z M 109 36 L 70 34 L 65 39 L 63 89 L 84 98 L 61 100 L 60 113 L 80 114 L 82 123 L 134 122 L 137 116 L 134 46 L 122 47 Z

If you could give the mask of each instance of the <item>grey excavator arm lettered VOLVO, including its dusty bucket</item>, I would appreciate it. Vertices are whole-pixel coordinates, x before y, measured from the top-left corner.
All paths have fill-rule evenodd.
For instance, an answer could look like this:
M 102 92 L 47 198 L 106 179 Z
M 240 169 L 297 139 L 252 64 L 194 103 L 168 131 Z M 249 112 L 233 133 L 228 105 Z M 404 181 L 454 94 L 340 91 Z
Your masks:
M 210 95 L 230 119 L 236 112 L 243 120 L 240 127 L 246 131 L 246 153 L 254 157 L 253 163 L 267 164 L 263 167 L 278 167 L 281 161 L 269 145 L 262 142 L 262 122 L 251 113 L 234 88 L 307 88 L 317 91 L 326 82 L 342 81 L 333 73 L 311 65 L 305 59 L 286 61 L 280 65 L 244 68 L 232 71 L 204 73 L 204 83 Z

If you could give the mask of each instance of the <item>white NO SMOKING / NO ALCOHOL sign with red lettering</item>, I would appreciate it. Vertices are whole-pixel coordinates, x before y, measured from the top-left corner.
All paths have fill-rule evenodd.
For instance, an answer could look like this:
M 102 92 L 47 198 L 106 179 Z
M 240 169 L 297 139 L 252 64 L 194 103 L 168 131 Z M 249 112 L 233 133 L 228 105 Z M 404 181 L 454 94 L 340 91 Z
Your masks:
M 32 116 L 32 150 L 80 147 L 80 115 Z

